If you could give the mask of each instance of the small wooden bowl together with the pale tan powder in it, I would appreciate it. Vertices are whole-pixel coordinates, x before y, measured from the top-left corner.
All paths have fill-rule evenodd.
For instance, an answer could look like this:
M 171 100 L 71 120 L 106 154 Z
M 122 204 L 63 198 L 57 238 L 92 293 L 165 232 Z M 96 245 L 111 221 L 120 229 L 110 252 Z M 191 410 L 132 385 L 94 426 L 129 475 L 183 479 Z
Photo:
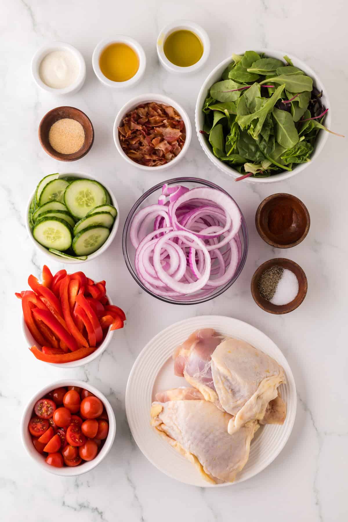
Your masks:
M 59 161 L 76 161 L 91 149 L 94 129 L 89 117 L 75 107 L 56 107 L 39 125 L 39 140 L 45 152 Z

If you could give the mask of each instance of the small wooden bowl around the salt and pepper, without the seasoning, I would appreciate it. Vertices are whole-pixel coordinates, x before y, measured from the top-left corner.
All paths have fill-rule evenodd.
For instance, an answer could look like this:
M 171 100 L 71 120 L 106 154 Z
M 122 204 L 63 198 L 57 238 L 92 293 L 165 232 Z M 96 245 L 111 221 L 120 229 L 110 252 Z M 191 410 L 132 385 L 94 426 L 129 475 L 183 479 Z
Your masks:
M 271 268 L 274 265 L 281 266 L 283 268 L 287 268 L 291 270 L 298 280 L 298 293 L 293 301 L 283 305 L 275 305 L 264 299 L 259 292 L 258 283 L 262 273 Z M 265 263 L 262 263 L 261 266 L 256 270 L 253 278 L 251 279 L 251 295 L 254 298 L 255 303 L 265 310 L 265 312 L 269 312 L 270 314 L 288 314 L 295 310 L 305 299 L 307 293 L 308 283 L 305 272 L 302 270 L 301 266 L 297 265 L 291 259 L 285 259 L 284 257 L 277 257 L 275 259 L 269 259 Z

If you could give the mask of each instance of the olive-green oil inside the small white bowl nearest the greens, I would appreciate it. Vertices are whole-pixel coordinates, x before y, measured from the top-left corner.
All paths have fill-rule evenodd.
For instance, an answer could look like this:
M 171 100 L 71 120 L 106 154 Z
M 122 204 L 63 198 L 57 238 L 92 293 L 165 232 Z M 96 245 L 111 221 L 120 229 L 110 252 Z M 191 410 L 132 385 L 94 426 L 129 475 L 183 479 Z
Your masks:
M 186 29 L 174 31 L 166 38 L 163 51 L 172 64 L 189 67 L 197 63 L 203 54 L 203 44 L 197 34 Z

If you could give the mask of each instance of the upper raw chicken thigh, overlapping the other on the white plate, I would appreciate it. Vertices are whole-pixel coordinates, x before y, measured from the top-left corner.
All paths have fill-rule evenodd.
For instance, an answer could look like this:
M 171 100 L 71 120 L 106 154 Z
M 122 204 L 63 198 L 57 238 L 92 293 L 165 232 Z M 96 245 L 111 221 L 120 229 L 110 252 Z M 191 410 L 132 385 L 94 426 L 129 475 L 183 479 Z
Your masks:
M 174 352 L 174 372 L 203 397 L 230 413 L 233 433 L 250 420 L 283 423 L 286 407 L 278 396 L 285 382 L 282 367 L 265 353 L 240 339 L 225 339 L 212 328 L 195 331 Z M 265 417 L 266 410 L 268 414 Z

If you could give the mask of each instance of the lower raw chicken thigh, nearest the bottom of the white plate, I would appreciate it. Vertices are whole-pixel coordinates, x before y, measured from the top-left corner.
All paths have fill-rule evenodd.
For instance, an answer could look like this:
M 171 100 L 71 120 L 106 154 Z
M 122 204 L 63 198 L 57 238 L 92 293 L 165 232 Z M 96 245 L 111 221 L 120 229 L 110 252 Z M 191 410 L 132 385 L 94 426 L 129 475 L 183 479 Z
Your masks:
M 233 435 L 227 433 L 231 415 L 212 402 L 191 398 L 191 388 L 178 388 L 163 393 L 166 402 L 155 401 L 151 407 L 151 423 L 158 433 L 181 455 L 192 462 L 208 482 L 233 482 L 243 469 L 250 441 L 259 425 L 247 422 Z M 199 393 L 199 392 L 198 392 Z

